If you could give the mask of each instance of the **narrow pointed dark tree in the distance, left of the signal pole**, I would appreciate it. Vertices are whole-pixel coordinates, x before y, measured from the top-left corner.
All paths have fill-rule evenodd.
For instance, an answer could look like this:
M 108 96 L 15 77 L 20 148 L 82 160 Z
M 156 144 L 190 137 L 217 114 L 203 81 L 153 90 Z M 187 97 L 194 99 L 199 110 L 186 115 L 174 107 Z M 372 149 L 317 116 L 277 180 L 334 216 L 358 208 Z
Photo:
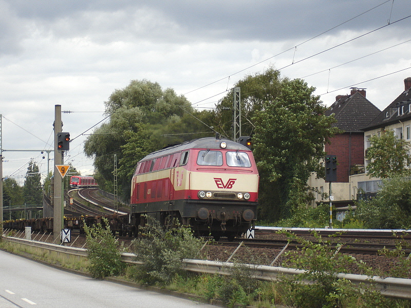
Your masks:
M 42 204 L 43 188 L 39 167 L 34 161 L 30 161 L 24 180 L 23 195 L 26 204 Z

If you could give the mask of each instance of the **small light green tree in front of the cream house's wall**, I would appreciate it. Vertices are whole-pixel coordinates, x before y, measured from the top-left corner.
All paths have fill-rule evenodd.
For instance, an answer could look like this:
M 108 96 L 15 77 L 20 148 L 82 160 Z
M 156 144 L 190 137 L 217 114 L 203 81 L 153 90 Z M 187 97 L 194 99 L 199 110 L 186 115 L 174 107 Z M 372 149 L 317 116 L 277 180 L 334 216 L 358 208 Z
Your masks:
M 367 149 L 368 175 L 376 178 L 391 178 L 409 175 L 406 168 L 408 152 L 411 145 L 404 139 L 397 138 L 394 131 L 387 130 L 381 136 L 369 139 L 371 146 Z

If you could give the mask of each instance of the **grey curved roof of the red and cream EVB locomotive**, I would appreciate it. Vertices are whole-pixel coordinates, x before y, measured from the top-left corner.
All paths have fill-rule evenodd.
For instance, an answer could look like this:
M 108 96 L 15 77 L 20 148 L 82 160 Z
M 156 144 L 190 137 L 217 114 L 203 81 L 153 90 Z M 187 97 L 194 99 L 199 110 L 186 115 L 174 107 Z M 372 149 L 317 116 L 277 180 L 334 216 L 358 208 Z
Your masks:
M 225 139 L 225 138 L 216 139 L 215 137 L 206 137 L 206 138 L 185 141 L 181 144 L 163 148 L 161 150 L 148 154 L 141 161 L 168 155 L 170 153 L 174 153 L 178 151 L 188 150 L 188 149 L 221 149 L 220 148 L 221 142 L 227 143 L 227 147 L 225 148 L 225 150 L 250 151 L 250 149 L 246 147 L 245 145 L 239 144 L 229 139 Z

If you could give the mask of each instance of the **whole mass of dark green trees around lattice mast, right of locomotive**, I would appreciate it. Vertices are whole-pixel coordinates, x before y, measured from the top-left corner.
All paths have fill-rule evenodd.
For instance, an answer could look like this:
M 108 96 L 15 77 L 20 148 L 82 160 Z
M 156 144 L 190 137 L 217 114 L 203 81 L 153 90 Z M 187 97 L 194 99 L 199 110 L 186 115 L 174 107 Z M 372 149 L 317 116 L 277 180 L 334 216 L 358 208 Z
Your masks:
M 241 134 L 253 137 L 260 217 L 289 218 L 312 198 L 307 192 L 310 173 L 324 174 L 319 162 L 325 156 L 325 142 L 338 132 L 331 127 L 335 120 L 324 115 L 327 107 L 312 94 L 315 88 L 303 80 L 282 79 L 272 67 L 247 75 L 235 87 L 241 89 Z M 228 137 L 232 102 L 230 92 L 215 111 L 214 127 Z

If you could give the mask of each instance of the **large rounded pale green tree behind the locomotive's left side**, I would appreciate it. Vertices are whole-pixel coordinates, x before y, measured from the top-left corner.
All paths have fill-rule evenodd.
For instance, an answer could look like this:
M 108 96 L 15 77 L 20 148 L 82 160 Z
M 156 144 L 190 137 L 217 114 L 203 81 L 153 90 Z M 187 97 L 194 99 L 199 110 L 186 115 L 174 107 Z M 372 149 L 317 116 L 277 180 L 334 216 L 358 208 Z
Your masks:
M 105 106 L 109 122 L 87 138 L 84 151 L 88 157 L 94 157 L 95 177 L 108 191 L 113 188 L 116 154 L 119 195 L 124 201 L 129 200 L 135 166 L 147 153 L 169 144 L 207 137 L 198 133 L 210 132 L 196 119 L 207 122 L 211 117 L 209 111 L 195 111 L 173 89 L 162 90 L 158 83 L 147 80 L 133 80 L 125 88 L 116 89 Z

